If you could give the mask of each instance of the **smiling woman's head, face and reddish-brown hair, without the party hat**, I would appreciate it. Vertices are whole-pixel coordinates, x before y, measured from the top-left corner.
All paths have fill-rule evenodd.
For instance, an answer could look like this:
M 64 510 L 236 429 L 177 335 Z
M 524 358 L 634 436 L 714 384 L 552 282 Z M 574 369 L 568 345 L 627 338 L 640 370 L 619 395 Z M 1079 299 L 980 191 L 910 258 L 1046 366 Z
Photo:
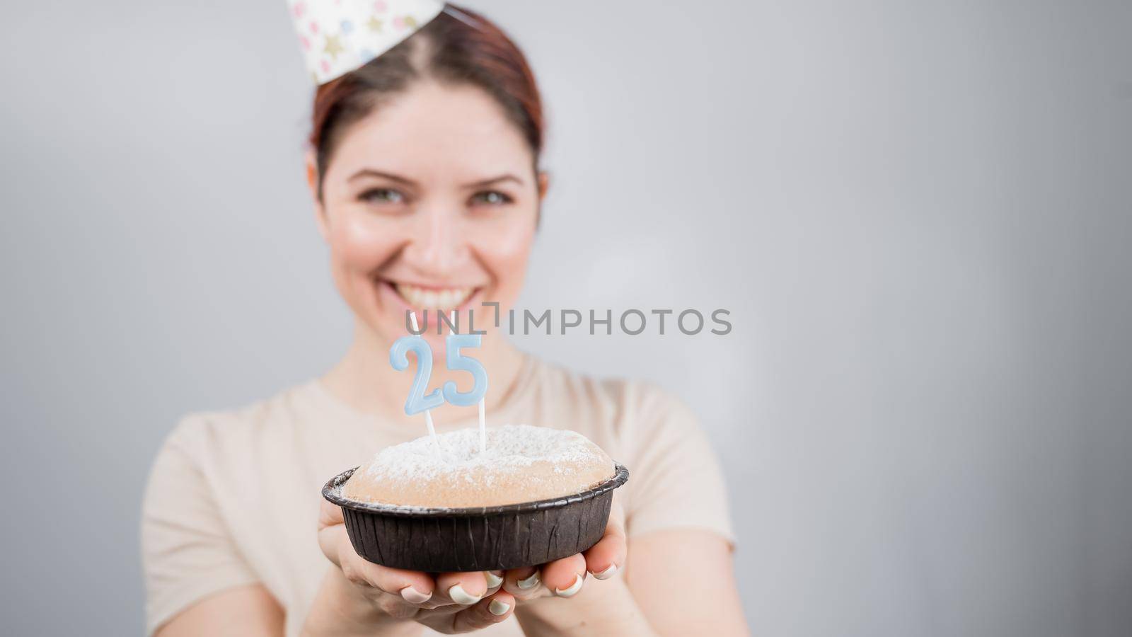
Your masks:
M 388 341 L 408 308 L 514 301 L 547 190 L 534 74 L 498 27 L 457 11 L 315 95 L 319 229 L 338 290 Z

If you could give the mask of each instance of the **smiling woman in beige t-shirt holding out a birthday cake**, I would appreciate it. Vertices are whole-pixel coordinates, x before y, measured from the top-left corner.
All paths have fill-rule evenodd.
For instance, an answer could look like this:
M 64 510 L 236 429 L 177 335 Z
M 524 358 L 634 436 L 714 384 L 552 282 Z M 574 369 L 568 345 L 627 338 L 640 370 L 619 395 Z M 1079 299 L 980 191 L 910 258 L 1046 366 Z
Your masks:
M 440 14 L 318 88 L 307 175 L 353 342 L 320 379 L 188 416 L 166 440 L 143 515 L 151 631 L 746 632 L 723 485 L 694 417 L 644 384 L 520 353 L 481 305 L 506 313 L 518 296 L 549 184 L 542 135 L 522 53 L 471 11 Z M 409 308 L 456 308 L 463 321 L 477 309 L 492 423 L 573 428 L 632 469 L 598 545 L 490 574 L 403 571 L 354 553 L 319 487 L 421 435 L 421 418 L 401 410 L 412 375 L 387 354 Z M 426 338 L 443 360 L 443 337 Z M 449 377 L 435 365 L 430 387 Z M 439 431 L 477 418 L 452 406 L 432 415 Z

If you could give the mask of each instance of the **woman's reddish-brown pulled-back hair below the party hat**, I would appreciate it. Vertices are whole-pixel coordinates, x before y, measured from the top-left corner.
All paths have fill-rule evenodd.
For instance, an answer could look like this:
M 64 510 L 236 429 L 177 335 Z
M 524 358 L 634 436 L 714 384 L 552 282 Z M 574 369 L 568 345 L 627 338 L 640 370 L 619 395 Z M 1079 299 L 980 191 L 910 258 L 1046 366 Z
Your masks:
M 337 142 L 383 99 L 412 82 L 479 86 L 503 107 L 534 154 L 542 151 L 542 100 L 534 74 L 518 46 L 479 14 L 447 5 L 436 18 L 366 65 L 323 84 L 315 92 L 309 142 L 315 148 L 318 193 Z

